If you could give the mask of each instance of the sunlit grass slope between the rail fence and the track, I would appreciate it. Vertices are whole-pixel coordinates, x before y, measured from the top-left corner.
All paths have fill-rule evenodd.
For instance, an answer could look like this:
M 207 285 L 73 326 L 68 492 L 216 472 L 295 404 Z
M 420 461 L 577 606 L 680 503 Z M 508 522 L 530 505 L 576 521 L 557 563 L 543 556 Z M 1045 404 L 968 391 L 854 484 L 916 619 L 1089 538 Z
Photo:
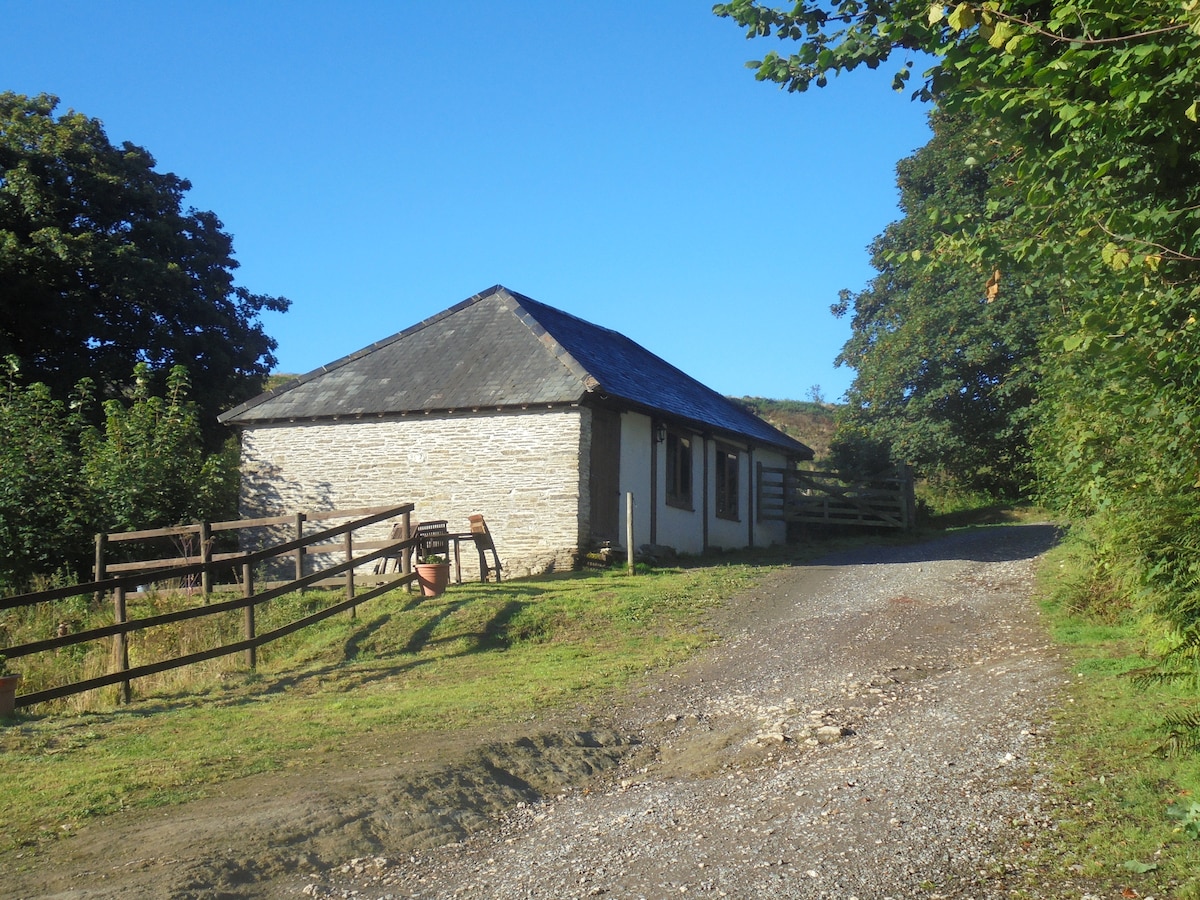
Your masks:
M 254 672 L 227 658 L 136 680 L 127 707 L 113 704 L 112 689 L 94 692 L 91 710 L 22 712 L 0 725 L 0 853 L 95 816 L 202 797 L 229 779 L 302 770 L 355 752 L 365 736 L 402 748 L 406 737 L 598 697 L 708 643 L 704 613 L 762 571 L 730 563 L 558 575 L 455 586 L 424 601 L 397 590 L 355 618 L 340 614 L 263 648 Z M 322 602 L 319 592 L 272 601 L 259 628 Z M 204 635 L 199 628 L 163 629 L 134 655 L 236 636 L 235 617 Z

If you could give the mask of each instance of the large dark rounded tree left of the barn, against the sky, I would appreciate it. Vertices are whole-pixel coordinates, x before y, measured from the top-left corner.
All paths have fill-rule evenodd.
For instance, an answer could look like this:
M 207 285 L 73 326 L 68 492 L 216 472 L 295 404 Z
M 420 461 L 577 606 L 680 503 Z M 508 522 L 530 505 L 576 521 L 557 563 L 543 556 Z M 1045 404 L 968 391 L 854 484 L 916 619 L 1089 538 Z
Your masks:
M 289 301 L 235 286 L 233 241 L 191 184 L 58 98 L 0 94 L 0 355 L 65 397 L 83 377 L 122 394 L 139 362 L 186 366 L 203 420 L 259 390 Z

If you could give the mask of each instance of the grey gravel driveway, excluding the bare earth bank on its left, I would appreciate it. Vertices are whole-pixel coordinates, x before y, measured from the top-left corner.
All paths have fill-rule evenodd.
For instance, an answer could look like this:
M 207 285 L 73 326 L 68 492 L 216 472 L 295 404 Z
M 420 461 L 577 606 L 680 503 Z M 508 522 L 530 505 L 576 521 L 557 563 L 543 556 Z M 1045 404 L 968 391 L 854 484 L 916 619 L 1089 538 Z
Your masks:
M 463 840 L 281 882 L 316 898 L 1000 898 L 1051 827 L 1036 763 L 1064 673 L 1030 602 L 1049 526 L 770 575 L 724 640 L 581 724 L 636 736 Z M 1036 892 L 1036 888 L 1034 888 Z

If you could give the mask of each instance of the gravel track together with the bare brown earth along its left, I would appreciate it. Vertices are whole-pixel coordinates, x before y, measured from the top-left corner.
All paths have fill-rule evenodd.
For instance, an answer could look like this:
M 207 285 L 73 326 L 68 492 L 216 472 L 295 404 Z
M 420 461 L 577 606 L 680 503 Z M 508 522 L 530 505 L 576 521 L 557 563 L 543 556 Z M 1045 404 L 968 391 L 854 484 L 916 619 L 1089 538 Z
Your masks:
M 1003 896 L 1048 826 L 1031 751 L 1063 674 L 1028 598 L 1052 540 L 775 572 L 611 709 L 245 779 L 84 829 L 0 894 Z

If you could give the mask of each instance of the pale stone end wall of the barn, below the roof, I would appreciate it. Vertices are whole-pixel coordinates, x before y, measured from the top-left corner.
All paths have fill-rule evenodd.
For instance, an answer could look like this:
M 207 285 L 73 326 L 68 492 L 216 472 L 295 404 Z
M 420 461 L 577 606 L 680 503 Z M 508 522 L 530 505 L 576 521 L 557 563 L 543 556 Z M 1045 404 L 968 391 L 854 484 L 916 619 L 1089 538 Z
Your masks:
M 413 503 L 414 522 L 467 532 L 479 512 L 506 575 L 570 568 L 587 521 L 587 420 L 570 408 L 246 427 L 242 515 Z M 463 577 L 479 577 L 474 547 L 462 551 Z

